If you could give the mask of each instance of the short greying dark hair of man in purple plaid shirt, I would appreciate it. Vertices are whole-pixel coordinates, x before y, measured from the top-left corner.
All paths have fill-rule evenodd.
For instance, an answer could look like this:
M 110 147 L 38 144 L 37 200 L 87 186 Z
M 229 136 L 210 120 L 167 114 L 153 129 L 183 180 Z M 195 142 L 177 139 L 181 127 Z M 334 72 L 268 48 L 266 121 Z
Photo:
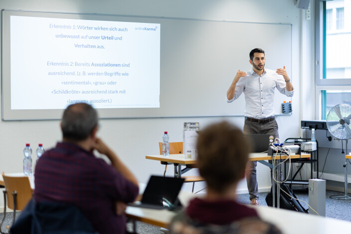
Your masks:
M 94 127 L 98 126 L 98 114 L 89 104 L 72 104 L 63 112 L 61 126 L 65 139 L 85 140 L 93 132 Z

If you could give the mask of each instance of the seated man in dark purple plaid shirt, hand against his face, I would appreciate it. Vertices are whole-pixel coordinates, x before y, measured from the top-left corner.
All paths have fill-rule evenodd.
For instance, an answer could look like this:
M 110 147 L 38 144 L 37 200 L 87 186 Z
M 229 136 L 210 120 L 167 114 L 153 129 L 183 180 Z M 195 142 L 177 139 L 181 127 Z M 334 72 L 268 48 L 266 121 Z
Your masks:
M 44 153 L 35 168 L 34 200 L 70 204 L 101 234 L 125 233 L 126 203 L 138 195 L 138 182 L 99 138 L 98 115 L 88 104 L 64 111 L 63 140 Z M 112 165 L 94 156 L 106 155 Z

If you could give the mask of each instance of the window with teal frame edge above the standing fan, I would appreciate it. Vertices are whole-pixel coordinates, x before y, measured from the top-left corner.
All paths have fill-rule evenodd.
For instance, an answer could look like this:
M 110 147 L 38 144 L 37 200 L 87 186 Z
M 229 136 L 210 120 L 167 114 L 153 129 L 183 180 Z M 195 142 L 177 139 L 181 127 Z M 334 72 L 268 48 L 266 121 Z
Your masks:
M 333 106 L 351 104 L 350 41 L 351 0 L 316 1 L 316 100 L 321 119 Z

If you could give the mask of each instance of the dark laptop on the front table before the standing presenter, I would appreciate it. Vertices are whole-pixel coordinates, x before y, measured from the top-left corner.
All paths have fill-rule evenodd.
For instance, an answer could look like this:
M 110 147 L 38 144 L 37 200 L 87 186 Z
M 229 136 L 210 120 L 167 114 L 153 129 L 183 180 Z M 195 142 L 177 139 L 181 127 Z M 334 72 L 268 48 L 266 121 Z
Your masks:
M 274 142 L 274 134 L 245 134 L 250 147 L 250 153 L 266 152 Z

